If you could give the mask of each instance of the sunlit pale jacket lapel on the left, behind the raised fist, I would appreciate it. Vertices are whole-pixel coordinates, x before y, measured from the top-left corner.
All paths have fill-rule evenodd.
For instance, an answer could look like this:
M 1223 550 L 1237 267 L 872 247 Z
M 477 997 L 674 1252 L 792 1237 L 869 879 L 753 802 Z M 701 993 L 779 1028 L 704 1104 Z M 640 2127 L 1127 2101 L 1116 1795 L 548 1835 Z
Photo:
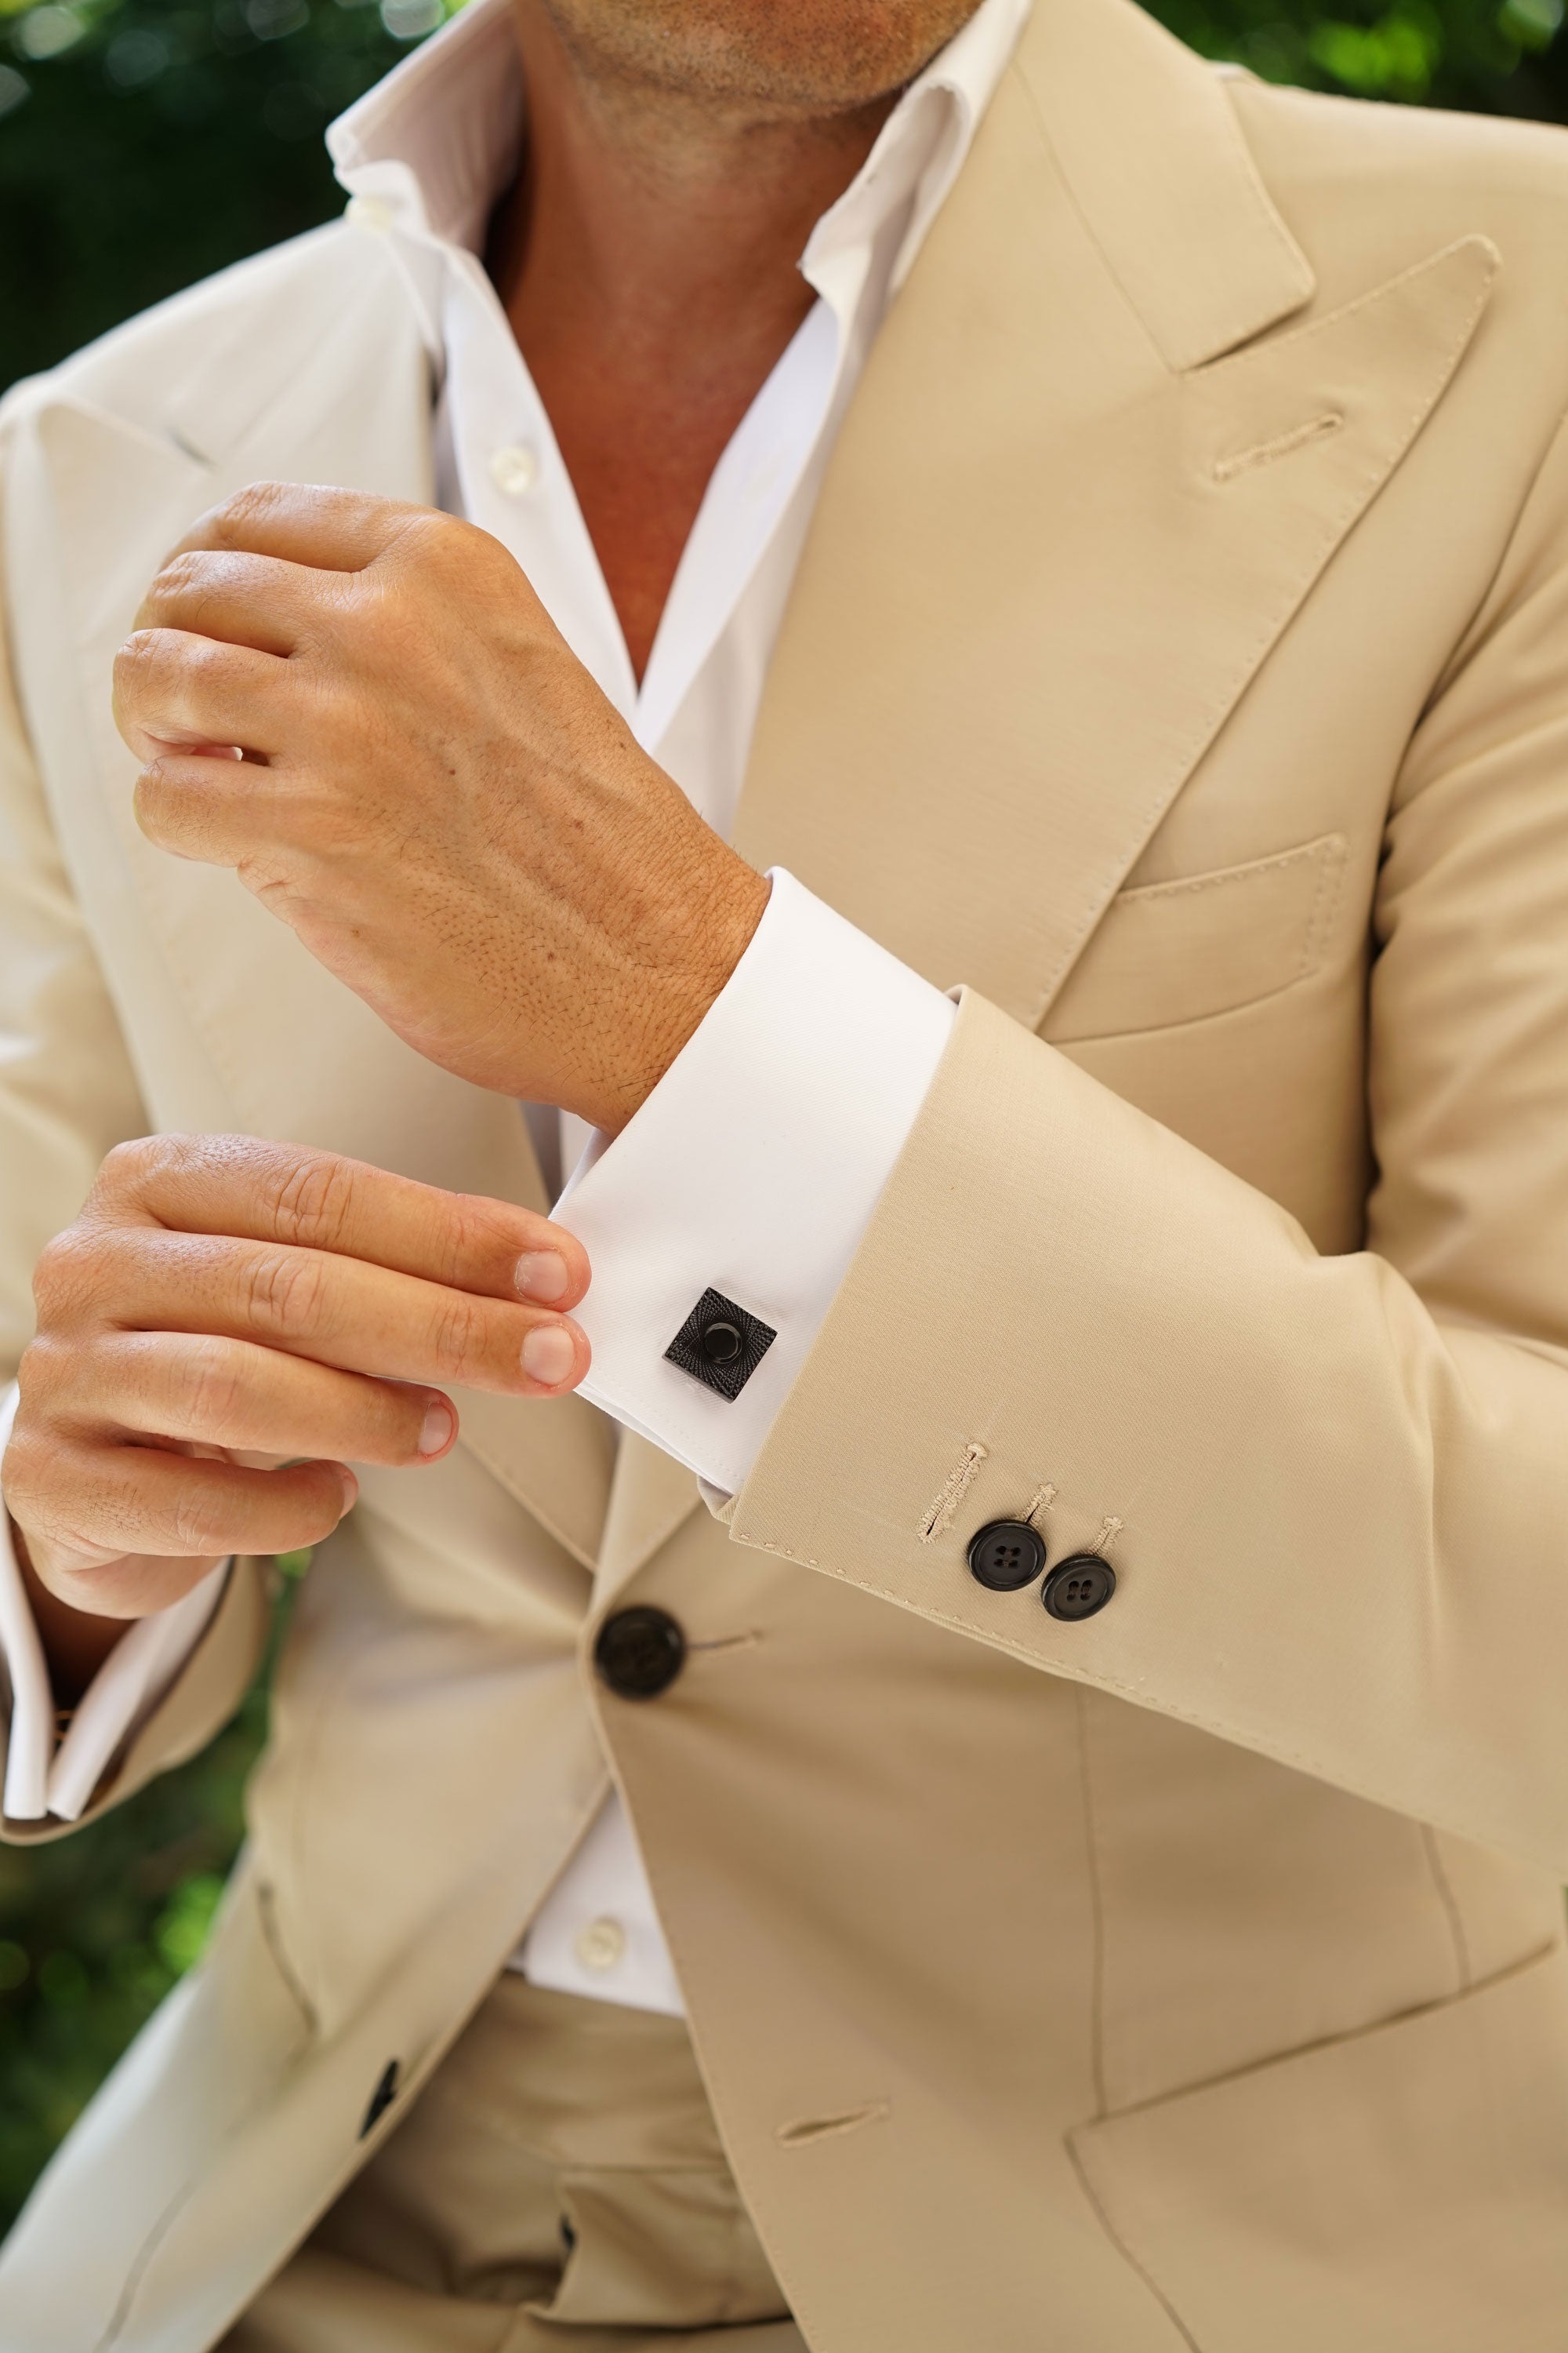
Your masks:
M 428 501 L 430 391 L 418 320 L 386 245 L 336 233 L 280 280 L 268 336 L 252 289 L 235 346 L 179 353 L 158 424 L 52 398 L 14 468 L 19 671 L 47 680 L 31 720 L 78 892 L 125 991 L 132 1049 L 162 1127 L 289 1136 L 458 1191 L 548 1207 L 515 1104 L 404 1047 L 230 875 L 153 849 L 132 814 L 136 762 L 108 704 L 113 654 L 167 548 L 259 478 Z M 240 348 L 242 341 L 242 348 Z M 40 551 L 59 558 L 38 574 Z M 61 675 L 68 649 L 71 678 Z M 611 1433 L 581 1400 L 461 1395 L 463 1442 L 592 1567 Z

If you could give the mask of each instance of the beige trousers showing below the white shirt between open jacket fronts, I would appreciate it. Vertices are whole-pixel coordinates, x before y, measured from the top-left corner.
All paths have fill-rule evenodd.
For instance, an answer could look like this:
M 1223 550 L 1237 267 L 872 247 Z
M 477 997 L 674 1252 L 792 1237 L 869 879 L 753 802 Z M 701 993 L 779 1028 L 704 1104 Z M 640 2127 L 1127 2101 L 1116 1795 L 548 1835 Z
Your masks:
M 684 2024 L 505 1974 L 221 2353 L 545 2348 L 806 2353 Z

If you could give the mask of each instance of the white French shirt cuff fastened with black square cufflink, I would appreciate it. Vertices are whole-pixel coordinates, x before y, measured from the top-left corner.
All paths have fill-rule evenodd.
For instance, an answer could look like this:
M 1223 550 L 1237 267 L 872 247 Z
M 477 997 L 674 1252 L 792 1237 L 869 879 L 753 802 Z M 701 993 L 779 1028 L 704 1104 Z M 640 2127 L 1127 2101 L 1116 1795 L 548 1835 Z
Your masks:
M 785 868 L 769 880 L 696 1035 L 614 1144 L 595 1134 L 552 1212 L 592 1266 L 574 1311 L 592 1346 L 581 1395 L 719 1494 L 806 1360 L 954 1019 Z M 668 1355 L 693 1315 L 738 1325 L 717 1379 Z

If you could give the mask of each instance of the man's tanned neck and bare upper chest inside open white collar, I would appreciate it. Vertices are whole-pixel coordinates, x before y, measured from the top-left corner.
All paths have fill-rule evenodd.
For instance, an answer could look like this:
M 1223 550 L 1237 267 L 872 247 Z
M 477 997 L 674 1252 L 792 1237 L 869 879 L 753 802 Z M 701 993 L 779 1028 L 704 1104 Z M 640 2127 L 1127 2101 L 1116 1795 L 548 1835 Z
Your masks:
M 708 478 L 806 318 L 797 261 L 893 96 L 661 85 L 517 0 L 529 144 L 491 273 L 642 673 Z

